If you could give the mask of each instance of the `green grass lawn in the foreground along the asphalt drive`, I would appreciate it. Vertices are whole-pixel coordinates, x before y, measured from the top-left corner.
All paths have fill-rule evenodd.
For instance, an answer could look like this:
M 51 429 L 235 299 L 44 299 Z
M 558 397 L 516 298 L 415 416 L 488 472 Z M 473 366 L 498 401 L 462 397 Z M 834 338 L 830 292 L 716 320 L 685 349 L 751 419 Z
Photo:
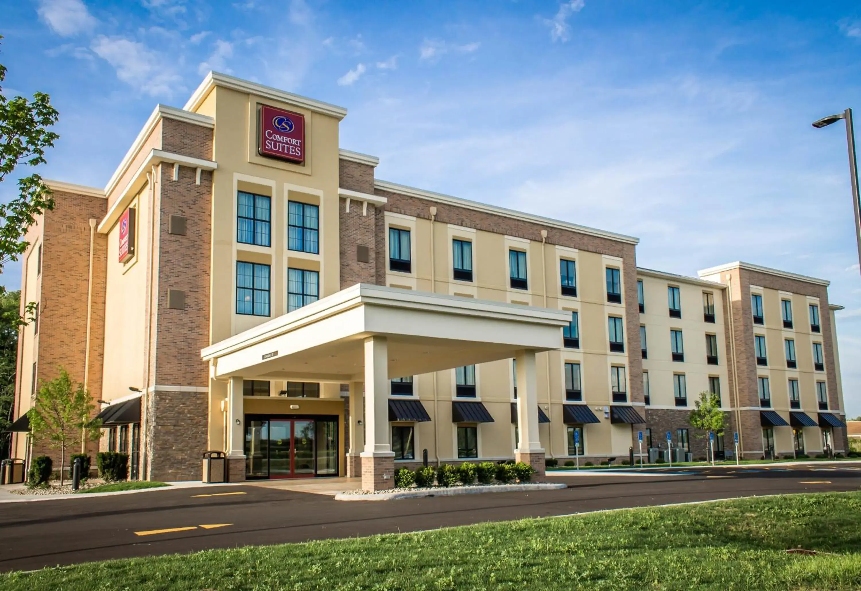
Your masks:
M 778 496 L 80 564 L 0 588 L 858 589 L 859 523 L 861 493 Z

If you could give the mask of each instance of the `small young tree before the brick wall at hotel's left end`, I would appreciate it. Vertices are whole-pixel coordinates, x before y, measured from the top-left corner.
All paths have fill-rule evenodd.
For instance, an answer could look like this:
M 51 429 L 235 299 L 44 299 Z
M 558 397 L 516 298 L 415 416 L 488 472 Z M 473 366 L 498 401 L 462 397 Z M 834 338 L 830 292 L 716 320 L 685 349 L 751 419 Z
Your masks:
M 80 446 L 82 437 L 95 441 L 102 435 L 101 421 L 90 419 L 94 409 L 90 391 L 60 367 L 59 377 L 41 385 L 34 407 L 28 411 L 34 440 L 47 440 L 49 446 L 59 449 L 60 486 L 65 483 L 66 448 Z

